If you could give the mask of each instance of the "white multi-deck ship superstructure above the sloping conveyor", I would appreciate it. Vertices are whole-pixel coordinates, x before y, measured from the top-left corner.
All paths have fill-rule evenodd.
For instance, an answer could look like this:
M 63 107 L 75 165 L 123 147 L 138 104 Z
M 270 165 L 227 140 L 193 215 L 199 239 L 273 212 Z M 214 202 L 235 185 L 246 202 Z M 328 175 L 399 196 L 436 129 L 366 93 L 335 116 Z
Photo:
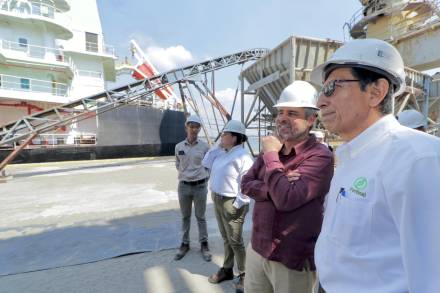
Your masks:
M 114 81 L 96 0 L 0 0 L 0 125 Z

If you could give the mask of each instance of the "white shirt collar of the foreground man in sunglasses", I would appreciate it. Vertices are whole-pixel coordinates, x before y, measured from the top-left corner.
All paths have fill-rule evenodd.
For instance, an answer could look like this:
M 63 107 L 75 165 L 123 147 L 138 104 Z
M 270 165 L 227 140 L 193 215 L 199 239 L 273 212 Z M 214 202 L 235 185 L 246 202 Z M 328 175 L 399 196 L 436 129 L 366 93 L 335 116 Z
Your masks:
M 338 147 L 336 156 L 342 159 L 354 159 L 364 150 L 368 149 L 369 146 L 377 144 L 382 137 L 399 125 L 399 122 L 397 122 L 393 115 L 385 115 L 358 136 Z

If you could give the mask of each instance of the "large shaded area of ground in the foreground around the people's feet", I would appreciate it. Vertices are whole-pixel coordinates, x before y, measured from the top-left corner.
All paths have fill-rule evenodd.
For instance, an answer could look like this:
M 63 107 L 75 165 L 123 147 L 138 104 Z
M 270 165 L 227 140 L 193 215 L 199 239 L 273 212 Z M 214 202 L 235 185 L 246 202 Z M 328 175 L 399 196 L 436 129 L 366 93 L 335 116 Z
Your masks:
M 0 292 L 235 292 L 231 281 L 207 281 L 223 261 L 212 204 L 207 219 L 212 262 L 200 254 L 194 216 L 191 250 L 173 260 L 180 244 L 177 209 L 1 240 Z

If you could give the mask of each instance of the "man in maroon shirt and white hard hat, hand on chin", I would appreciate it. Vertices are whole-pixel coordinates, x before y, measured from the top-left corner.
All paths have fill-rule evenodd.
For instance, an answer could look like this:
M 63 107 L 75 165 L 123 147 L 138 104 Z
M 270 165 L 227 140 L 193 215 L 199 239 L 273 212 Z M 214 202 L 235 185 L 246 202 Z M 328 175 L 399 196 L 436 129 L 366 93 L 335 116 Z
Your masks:
M 313 250 L 333 175 L 332 153 L 309 134 L 316 95 L 305 81 L 283 90 L 274 106 L 276 136 L 262 138 L 262 153 L 243 177 L 242 192 L 255 200 L 245 292 L 313 290 Z

